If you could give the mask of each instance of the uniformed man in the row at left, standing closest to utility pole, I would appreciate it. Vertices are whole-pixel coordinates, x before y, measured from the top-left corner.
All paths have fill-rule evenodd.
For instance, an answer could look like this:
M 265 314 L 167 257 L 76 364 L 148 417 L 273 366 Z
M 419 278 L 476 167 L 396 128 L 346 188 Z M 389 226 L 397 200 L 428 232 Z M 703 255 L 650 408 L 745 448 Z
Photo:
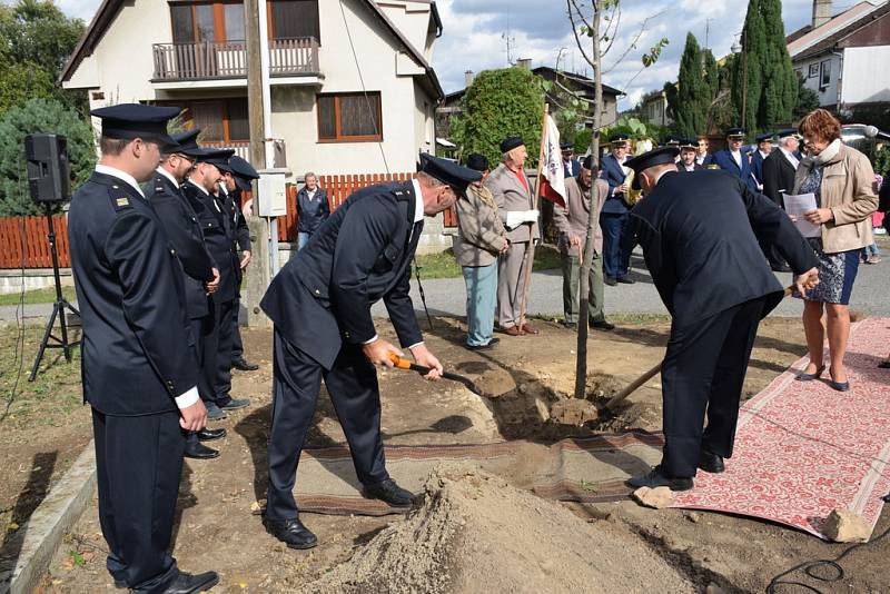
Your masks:
M 235 244 L 239 254 L 238 263 L 238 295 L 235 298 L 235 315 L 231 320 L 235 328 L 231 330 L 231 366 L 240 372 L 256 372 L 259 365 L 255 365 L 244 358 L 244 341 L 241 340 L 241 327 L 238 323 L 238 314 L 241 309 L 241 280 L 244 270 L 250 264 L 250 230 L 247 228 L 247 218 L 241 212 L 241 192 L 250 191 L 250 182 L 259 179 L 259 174 L 254 166 L 241 157 L 234 155 L 228 164 L 221 169 L 222 179 L 219 181 L 219 189 L 225 195 L 225 205 L 228 217 L 235 231 Z

